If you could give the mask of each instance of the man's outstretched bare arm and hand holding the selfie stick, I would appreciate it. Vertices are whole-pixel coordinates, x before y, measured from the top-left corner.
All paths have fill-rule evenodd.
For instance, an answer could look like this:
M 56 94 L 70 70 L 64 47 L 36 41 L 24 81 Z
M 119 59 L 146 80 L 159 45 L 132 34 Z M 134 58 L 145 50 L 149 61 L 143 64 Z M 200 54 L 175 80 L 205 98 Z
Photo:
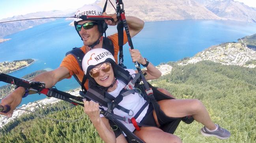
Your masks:
M 45 83 L 45 87 L 49 88 L 54 86 L 58 81 L 63 80 L 64 78 L 68 78 L 69 71 L 65 67 L 59 67 L 53 71 L 43 72 L 33 78 L 31 81 L 41 81 Z M 11 107 L 8 113 L 0 114 L 11 117 L 13 114 L 13 110 L 21 103 L 22 96 L 25 94 L 25 89 L 23 87 L 19 87 L 7 95 L 5 98 L 1 100 L 0 105 L 9 105 Z

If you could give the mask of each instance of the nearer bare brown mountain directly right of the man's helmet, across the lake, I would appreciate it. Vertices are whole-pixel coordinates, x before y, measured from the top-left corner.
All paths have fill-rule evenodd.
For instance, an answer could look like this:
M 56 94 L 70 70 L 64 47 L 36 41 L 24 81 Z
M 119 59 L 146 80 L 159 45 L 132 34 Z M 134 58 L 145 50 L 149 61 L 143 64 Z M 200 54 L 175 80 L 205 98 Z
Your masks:
M 105 0 L 96 2 L 104 7 Z M 221 18 L 194 0 L 123 0 L 125 15 L 136 16 L 145 22 L 185 19 Z M 107 13 L 114 13 L 114 8 L 108 2 Z

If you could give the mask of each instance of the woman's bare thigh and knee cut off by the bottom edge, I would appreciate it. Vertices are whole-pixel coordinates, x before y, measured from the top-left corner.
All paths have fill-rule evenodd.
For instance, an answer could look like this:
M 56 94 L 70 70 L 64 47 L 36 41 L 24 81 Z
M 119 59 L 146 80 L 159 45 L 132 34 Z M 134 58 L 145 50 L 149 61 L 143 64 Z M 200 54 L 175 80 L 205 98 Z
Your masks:
M 157 127 L 141 127 L 140 129 L 140 131 L 135 130 L 134 134 L 145 143 L 181 143 L 178 136 L 164 132 Z

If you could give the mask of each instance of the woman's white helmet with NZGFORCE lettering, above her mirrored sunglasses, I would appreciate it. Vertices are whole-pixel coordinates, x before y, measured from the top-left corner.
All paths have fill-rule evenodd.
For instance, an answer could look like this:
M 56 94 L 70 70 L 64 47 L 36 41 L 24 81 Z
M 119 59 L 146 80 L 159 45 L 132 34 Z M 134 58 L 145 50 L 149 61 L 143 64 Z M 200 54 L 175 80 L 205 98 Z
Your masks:
M 115 63 L 115 58 L 110 51 L 103 48 L 95 48 L 90 50 L 84 55 L 82 60 L 84 74 L 88 73 L 88 71 L 96 65 L 105 62 L 110 62 L 112 64 Z

